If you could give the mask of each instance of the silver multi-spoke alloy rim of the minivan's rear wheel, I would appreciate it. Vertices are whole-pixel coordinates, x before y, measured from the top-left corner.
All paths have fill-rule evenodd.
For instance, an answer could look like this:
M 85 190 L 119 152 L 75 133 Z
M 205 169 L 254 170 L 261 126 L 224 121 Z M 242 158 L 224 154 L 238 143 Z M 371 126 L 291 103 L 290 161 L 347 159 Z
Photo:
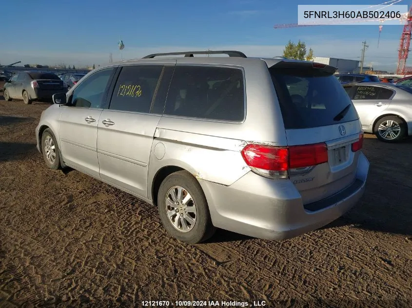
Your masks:
M 196 204 L 189 192 L 173 186 L 166 194 L 166 213 L 173 227 L 180 232 L 191 231 L 196 224 Z

